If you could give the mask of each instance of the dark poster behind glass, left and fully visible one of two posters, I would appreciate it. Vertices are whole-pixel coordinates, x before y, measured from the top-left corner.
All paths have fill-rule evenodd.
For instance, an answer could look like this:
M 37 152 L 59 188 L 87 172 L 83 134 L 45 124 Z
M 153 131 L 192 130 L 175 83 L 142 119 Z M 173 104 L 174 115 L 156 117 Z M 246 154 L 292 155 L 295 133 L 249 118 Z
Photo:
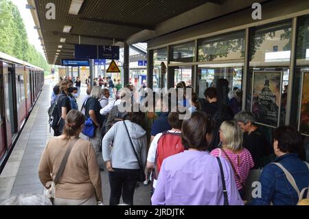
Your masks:
M 253 72 L 252 113 L 255 121 L 266 126 L 279 126 L 282 93 L 282 71 Z

